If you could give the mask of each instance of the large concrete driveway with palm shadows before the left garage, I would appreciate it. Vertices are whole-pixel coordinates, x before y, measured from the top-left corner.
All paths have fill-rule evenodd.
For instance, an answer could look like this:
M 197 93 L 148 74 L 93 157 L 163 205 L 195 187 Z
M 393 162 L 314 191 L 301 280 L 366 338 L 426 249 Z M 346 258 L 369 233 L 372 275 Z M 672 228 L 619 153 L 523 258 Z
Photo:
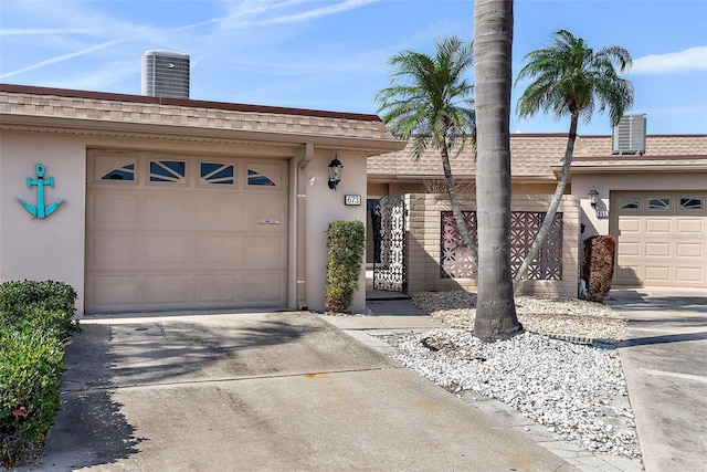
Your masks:
M 315 314 L 82 326 L 32 470 L 574 470 Z

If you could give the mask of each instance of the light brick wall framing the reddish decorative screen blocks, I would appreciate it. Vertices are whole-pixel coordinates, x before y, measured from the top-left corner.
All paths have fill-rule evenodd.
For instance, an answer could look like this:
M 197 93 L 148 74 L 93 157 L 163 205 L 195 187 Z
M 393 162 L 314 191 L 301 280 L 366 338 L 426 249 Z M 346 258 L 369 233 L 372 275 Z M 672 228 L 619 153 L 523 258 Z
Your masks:
M 511 199 L 513 211 L 546 212 L 550 196 L 518 195 Z M 429 193 L 405 195 L 408 208 L 408 292 L 466 290 L 476 291 L 474 279 L 442 279 L 440 276 L 440 214 L 452 206 L 446 196 Z M 462 201 L 463 211 L 474 211 L 473 198 Z M 579 282 L 579 199 L 562 197 L 558 212 L 562 212 L 562 280 L 524 281 L 519 293 L 551 297 L 577 297 Z

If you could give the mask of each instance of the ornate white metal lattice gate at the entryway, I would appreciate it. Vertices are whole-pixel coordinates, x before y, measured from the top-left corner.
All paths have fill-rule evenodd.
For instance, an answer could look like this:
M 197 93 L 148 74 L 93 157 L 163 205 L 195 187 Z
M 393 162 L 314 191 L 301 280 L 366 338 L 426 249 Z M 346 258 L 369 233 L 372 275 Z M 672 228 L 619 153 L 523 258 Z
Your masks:
M 373 290 L 404 292 L 405 280 L 405 202 L 389 195 L 372 209 Z

